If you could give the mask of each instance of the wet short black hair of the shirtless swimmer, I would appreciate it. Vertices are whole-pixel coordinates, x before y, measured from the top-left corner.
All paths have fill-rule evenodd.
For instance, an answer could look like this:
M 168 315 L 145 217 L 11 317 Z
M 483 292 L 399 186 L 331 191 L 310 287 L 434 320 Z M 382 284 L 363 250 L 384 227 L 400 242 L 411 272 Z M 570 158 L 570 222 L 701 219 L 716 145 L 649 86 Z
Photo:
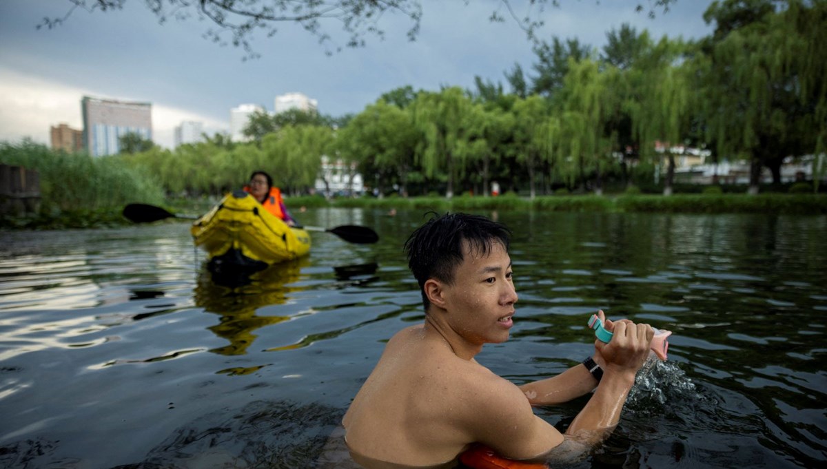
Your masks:
M 509 249 L 511 231 L 485 216 L 466 213 L 432 213 L 431 220 L 425 222 L 405 241 L 404 250 L 408 256 L 408 267 L 419 282 L 422 302 L 428 311 L 430 301 L 425 295 L 425 282 L 435 278 L 451 285 L 454 272 L 462 263 L 462 240 L 466 240 L 472 253 L 485 255 L 494 244 L 502 244 Z M 427 215 L 427 214 L 426 214 Z

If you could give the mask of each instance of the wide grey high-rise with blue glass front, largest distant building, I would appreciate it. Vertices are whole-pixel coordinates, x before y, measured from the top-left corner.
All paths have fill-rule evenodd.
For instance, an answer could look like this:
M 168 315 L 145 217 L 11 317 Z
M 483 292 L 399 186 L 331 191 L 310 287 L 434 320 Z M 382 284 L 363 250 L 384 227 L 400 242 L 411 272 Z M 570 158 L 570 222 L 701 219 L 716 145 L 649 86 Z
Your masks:
M 117 154 L 123 135 L 138 134 L 152 140 L 152 105 L 84 96 L 84 147 L 92 156 Z

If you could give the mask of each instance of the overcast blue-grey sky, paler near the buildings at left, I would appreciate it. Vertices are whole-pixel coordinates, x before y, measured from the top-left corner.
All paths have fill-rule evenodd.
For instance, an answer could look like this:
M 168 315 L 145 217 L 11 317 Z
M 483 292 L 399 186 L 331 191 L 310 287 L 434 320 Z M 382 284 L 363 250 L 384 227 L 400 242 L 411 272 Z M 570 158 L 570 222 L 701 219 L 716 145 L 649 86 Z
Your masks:
M 491 23 L 499 0 L 423 0 L 421 31 L 399 15 L 380 21 L 385 40 L 328 56 L 300 27 L 284 24 L 272 38 L 256 36 L 261 58 L 203 38 L 206 21 L 159 24 L 143 1 L 115 12 L 76 9 L 61 26 L 37 30 L 43 17 L 62 17 L 66 0 L 0 0 L 0 141 L 23 137 L 48 144 L 49 127 L 80 129 L 84 95 L 152 103 L 155 143 L 170 148 L 181 121 L 203 121 L 212 134 L 228 131 L 230 109 L 254 103 L 273 110 L 277 95 L 302 92 L 331 116 L 356 113 L 394 88 L 437 91 L 474 88 L 474 77 L 504 83 L 520 64 L 530 73 L 531 44 L 514 21 Z M 518 14 L 523 0 L 512 2 Z M 576 37 L 600 48 L 624 22 L 654 38 L 710 34 L 702 15 L 710 0 L 676 0 L 669 12 L 646 12 L 652 0 L 562 0 L 548 7 L 540 37 Z M 643 5 L 644 12 L 635 6 Z M 335 33 L 335 21 L 325 25 Z

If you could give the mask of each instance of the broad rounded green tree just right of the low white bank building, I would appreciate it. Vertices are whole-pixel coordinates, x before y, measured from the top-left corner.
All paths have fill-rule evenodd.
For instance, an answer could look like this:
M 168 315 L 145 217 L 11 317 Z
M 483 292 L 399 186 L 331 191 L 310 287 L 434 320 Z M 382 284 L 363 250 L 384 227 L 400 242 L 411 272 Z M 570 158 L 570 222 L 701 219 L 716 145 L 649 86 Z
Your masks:
M 409 112 L 380 99 L 354 116 L 336 140 L 344 159 L 356 162 L 362 174 L 375 175 L 380 197 L 394 183 L 407 196 L 418 140 Z

